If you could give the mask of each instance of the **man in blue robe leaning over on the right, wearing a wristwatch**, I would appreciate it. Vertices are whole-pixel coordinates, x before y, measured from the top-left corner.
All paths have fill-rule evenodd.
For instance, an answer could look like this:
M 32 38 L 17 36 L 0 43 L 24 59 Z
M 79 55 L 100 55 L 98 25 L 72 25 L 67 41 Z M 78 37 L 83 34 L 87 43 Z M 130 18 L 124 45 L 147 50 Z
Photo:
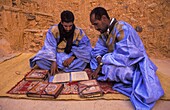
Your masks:
M 113 81 L 112 88 L 128 96 L 135 109 L 152 109 L 164 91 L 137 32 L 124 21 L 110 19 L 102 7 L 91 11 L 90 21 L 101 33 L 91 52 L 93 76 Z

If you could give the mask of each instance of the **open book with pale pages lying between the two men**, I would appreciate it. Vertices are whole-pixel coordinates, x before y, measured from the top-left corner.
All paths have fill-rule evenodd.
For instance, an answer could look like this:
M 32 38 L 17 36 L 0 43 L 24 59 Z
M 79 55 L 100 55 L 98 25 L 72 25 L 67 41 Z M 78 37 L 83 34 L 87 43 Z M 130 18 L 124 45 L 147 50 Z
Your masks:
M 89 77 L 85 71 L 70 72 L 70 73 L 58 73 L 49 78 L 49 82 L 64 83 L 89 80 Z

